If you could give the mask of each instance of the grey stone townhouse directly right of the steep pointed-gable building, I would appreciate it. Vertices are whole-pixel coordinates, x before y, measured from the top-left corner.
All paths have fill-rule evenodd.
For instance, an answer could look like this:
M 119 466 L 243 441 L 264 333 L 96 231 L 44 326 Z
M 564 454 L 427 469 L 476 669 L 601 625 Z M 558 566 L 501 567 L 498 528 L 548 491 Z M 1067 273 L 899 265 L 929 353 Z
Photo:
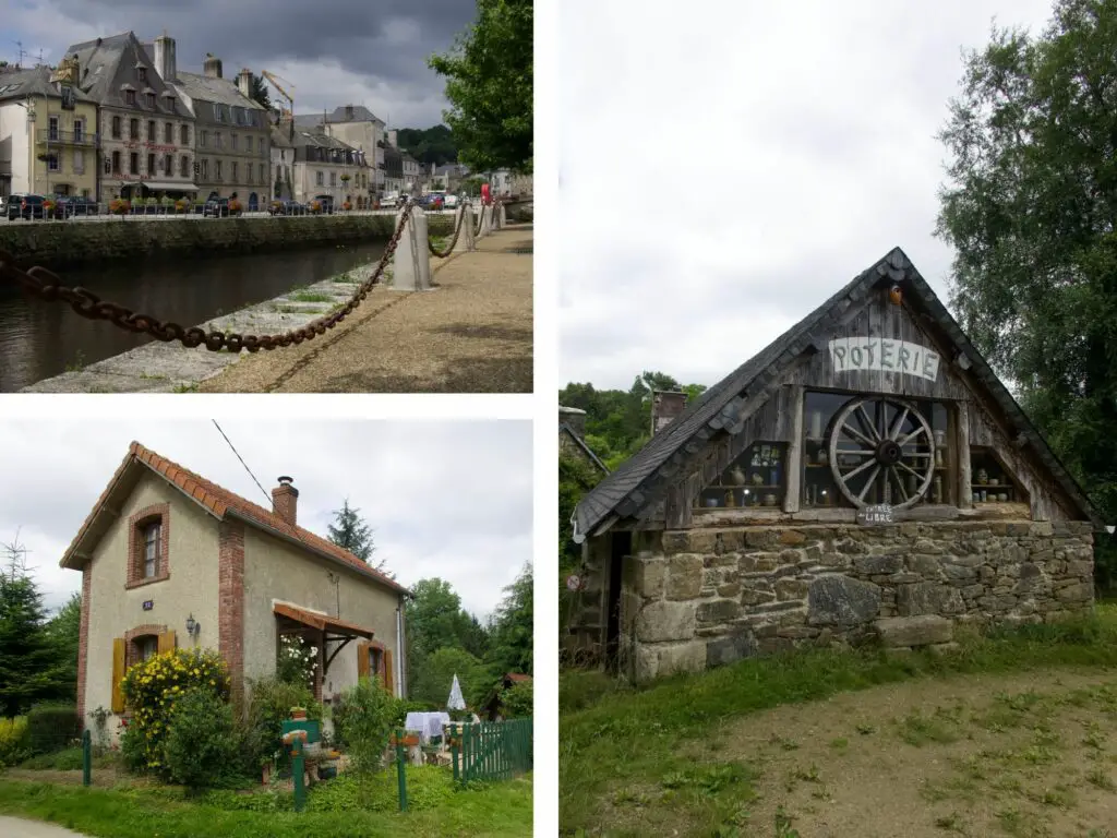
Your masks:
M 251 98 L 251 73 L 241 69 L 233 83 L 212 55 L 206 56 L 201 75 L 185 73 L 175 66 L 173 49 L 169 55 L 164 77 L 194 116 L 199 196 L 236 197 L 249 211 L 265 209 L 271 193 L 271 121 Z

